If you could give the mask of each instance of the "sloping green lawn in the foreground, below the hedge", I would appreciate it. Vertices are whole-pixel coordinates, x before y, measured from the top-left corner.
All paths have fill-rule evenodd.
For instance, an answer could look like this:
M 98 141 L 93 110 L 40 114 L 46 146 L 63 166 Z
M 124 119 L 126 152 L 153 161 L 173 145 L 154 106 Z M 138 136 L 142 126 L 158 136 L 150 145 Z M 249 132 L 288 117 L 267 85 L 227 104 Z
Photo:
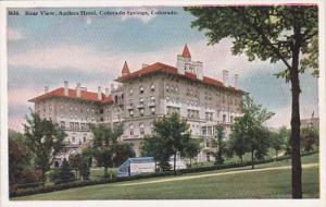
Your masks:
M 302 163 L 318 162 L 318 154 L 302 157 Z M 289 161 L 277 161 L 258 165 L 256 169 L 289 166 Z M 43 200 L 82 200 L 82 199 L 217 199 L 217 198 L 290 198 L 290 169 L 271 171 L 251 171 L 243 173 L 212 175 L 249 169 L 228 169 L 202 173 L 192 173 L 177 178 L 187 179 L 193 175 L 211 175 L 166 182 L 170 178 L 153 178 L 123 183 L 111 183 L 61 192 L 37 194 L 14 199 Z M 173 178 L 173 176 L 172 176 Z M 305 198 L 319 196 L 318 167 L 303 168 L 302 183 Z M 148 183 L 161 181 L 161 183 Z M 146 182 L 146 183 L 145 183 Z M 127 184 L 127 185 L 126 185 Z

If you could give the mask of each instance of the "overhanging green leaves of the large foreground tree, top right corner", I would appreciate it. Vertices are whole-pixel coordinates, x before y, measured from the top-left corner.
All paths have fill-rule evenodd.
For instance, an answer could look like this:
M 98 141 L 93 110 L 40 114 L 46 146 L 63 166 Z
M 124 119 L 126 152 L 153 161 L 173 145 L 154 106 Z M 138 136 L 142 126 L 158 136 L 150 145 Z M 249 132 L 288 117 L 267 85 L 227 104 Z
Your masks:
M 279 76 L 287 80 L 293 48 L 300 46 L 304 56 L 301 71 L 312 68 L 317 74 L 318 9 L 315 5 L 206 7 L 186 8 L 186 11 L 197 17 L 191 26 L 204 31 L 210 45 L 229 37 L 234 54 L 246 53 L 249 61 L 280 60 L 286 69 Z

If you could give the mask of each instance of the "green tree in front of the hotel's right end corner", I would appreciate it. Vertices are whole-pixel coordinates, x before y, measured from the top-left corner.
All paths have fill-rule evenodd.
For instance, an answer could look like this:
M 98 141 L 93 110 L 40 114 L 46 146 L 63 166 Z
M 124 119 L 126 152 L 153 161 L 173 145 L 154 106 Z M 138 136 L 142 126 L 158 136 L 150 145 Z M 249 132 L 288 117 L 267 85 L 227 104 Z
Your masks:
M 269 147 L 269 131 L 263 126 L 263 123 L 274 113 L 268 112 L 261 105 L 255 105 L 248 95 L 244 96 L 241 110 L 242 115 L 236 118 L 231 126 L 230 145 L 234 145 L 231 148 L 239 150 L 241 157 L 244 153 L 251 154 L 253 169 L 254 157 L 263 159 Z

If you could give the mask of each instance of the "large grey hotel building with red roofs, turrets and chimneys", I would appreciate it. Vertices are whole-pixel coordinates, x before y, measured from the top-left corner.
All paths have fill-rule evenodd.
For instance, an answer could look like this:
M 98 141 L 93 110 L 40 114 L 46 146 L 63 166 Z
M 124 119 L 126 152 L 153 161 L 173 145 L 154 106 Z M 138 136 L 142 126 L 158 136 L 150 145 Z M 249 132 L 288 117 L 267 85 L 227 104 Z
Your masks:
M 91 139 L 89 124 L 123 123 L 121 142 L 130 143 L 139 156 L 139 145 L 145 135 L 153 133 L 156 118 L 177 112 L 187 119 L 193 138 L 202 141 L 199 161 L 211 158 L 211 141 L 217 124 L 223 124 L 226 137 L 236 117 L 241 114 L 243 92 L 238 88 L 239 76 L 233 86 L 228 72 L 223 71 L 223 82 L 203 75 L 203 63 L 192 61 L 187 45 L 177 56 L 176 66 L 164 63 L 143 64 L 130 72 L 124 63 L 118 86 L 101 87 L 97 93 L 77 84 L 75 89 L 64 87 L 46 92 L 30 101 L 43 119 L 52 120 L 67 133 L 66 146 L 77 150 Z

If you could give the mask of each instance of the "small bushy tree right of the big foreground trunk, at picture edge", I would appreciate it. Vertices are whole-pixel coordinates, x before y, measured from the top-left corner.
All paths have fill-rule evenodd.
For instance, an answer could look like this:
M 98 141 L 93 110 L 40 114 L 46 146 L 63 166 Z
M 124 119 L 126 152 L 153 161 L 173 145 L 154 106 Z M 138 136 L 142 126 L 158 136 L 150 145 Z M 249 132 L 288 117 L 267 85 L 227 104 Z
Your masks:
M 312 126 L 301 129 L 301 143 L 304 151 L 311 151 L 314 149 L 314 145 L 318 143 L 319 133 L 318 130 Z

